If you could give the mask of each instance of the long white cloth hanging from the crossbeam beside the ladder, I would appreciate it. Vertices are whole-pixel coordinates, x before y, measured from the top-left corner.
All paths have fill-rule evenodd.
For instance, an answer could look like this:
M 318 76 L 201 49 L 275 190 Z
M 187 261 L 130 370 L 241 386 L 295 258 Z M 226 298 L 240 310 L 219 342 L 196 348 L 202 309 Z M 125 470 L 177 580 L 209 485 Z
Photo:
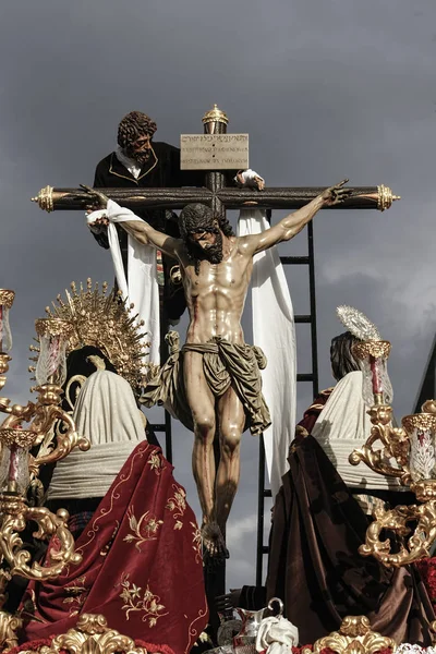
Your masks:
M 263 211 L 243 209 L 238 234 L 257 234 L 269 229 Z M 263 393 L 271 414 L 264 433 L 265 458 L 272 497 L 287 472 L 288 450 L 294 438 L 296 411 L 296 344 L 293 307 L 277 247 L 254 256 L 252 275 L 253 340 L 265 352 Z

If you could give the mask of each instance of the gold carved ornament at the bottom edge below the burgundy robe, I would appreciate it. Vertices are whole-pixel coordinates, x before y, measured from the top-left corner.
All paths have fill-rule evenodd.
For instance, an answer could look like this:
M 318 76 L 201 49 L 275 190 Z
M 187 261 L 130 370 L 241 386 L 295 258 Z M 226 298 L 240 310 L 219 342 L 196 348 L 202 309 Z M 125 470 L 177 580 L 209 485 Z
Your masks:
M 108 627 L 102 615 L 83 614 L 74 629 L 56 637 L 50 646 L 43 646 L 38 654 L 147 654 L 147 650 L 135 645 L 133 639 Z M 23 652 L 24 654 L 24 652 Z

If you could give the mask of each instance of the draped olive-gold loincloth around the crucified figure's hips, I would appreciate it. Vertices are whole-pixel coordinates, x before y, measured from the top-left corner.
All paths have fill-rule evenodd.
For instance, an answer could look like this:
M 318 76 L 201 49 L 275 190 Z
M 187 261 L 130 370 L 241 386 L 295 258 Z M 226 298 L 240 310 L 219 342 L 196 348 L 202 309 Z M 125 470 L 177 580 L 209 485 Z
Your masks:
M 140 399 L 142 404 L 164 404 L 171 415 L 193 432 L 183 377 L 183 353 L 198 352 L 203 355 L 204 375 L 215 398 L 220 398 L 232 387 L 244 408 L 244 428 L 250 427 L 253 435 L 258 435 L 269 427 L 271 421 L 262 395 L 261 377 L 266 358 L 261 348 L 214 338 L 207 343 L 185 343 L 180 350 L 177 331 L 170 331 L 166 340 L 170 348 L 169 358 L 148 380 Z

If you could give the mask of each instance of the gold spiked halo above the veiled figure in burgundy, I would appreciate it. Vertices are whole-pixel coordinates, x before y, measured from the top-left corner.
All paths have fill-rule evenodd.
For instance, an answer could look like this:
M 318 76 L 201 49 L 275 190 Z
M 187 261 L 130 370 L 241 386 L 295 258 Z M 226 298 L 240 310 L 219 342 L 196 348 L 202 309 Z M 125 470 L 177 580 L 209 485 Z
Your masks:
M 71 292 L 65 291 L 65 301 L 58 295 L 57 304 L 53 302 L 51 308 L 46 308 L 46 313 L 50 318 L 71 323 L 73 335 L 66 353 L 84 346 L 99 348 L 119 375 L 138 391 L 147 353 L 145 335 L 141 331 L 143 324 L 137 323 L 133 305 L 129 306 L 113 289 L 109 294 L 107 290 L 107 282 L 100 291 L 98 283 L 93 288 L 90 279 L 86 282 L 86 290 L 82 284 L 77 290 L 73 281 Z

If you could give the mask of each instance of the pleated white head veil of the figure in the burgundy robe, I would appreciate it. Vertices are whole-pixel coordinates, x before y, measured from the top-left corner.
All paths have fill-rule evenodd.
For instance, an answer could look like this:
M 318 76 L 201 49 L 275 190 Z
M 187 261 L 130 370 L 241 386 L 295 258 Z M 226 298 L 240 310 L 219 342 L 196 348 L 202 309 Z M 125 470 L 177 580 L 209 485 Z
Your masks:
M 59 461 L 48 499 L 104 497 L 141 440 L 144 421 L 129 383 L 109 371 L 98 371 L 83 385 L 73 420 L 76 432 L 90 443 Z

